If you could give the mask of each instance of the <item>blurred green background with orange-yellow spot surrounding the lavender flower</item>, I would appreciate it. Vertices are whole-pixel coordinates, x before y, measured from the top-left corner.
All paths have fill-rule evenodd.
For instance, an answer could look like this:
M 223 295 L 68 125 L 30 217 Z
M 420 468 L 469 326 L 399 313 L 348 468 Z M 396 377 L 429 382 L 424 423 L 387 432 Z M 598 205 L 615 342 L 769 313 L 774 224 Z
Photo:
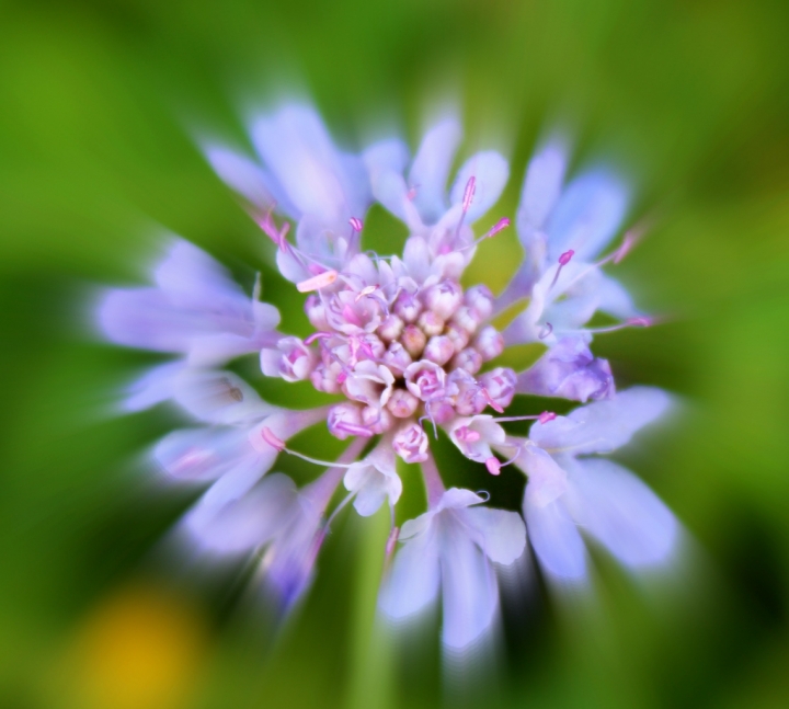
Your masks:
M 425 106 L 455 99 L 466 155 L 512 158 L 496 218 L 563 121 L 578 163 L 617 164 L 637 186 L 632 220 L 652 219 L 618 273 L 666 322 L 597 350 L 620 382 L 685 402 L 619 457 L 694 553 L 651 594 L 599 559 L 593 610 L 533 588 L 485 705 L 789 706 L 789 4 L 26 0 L 0 18 L 0 706 L 441 701 L 437 645 L 398 654 L 373 625 L 386 519 L 340 522 L 274 640 L 237 580 L 164 568 L 157 540 L 190 499 L 158 494 L 139 458 L 178 419 L 108 415 L 152 359 L 96 342 L 84 317 L 91 284 L 139 282 L 170 230 L 248 287 L 261 270 L 264 297 L 304 330 L 193 141 L 242 139 L 241 108 L 295 85 L 348 145 L 381 126 L 415 145 Z M 403 236 L 379 210 L 367 231 Z M 501 287 L 517 253 L 512 232 L 487 242 L 470 279 Z

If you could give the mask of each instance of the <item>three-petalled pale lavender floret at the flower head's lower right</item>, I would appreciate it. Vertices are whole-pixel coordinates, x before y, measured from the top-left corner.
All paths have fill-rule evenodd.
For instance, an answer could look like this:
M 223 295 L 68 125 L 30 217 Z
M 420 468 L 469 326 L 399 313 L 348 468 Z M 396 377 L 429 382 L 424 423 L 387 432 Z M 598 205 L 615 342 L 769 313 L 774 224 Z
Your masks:
M 515 465 L 528 474 L 524 516 L 549 576 L 585 580 L 580 529 L 633 570 L 671 559 L 679 531 L 671 511 L 629 470 L 586 457 L 625 445 L 668 405 L 662 390 L 632 387 L 531 426 Z

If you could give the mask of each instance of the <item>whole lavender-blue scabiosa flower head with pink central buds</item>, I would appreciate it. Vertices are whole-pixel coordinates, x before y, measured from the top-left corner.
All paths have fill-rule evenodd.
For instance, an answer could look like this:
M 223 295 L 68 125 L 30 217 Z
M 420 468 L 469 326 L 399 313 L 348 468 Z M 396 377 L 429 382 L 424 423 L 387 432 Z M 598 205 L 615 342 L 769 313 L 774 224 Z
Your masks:
M 334 516 L 351 502 L 363 516 L 387 505 L 380 610 L 391 620 L 413 617 L 441 595 L 444 645 L 460 652 L 493 627 L 498 570 L 523 558 L 527 527 L 554 580 L 586 578 L 582 531 L 630 569 L 666 563 L 678 528 L 671 512 L 625 469 L 587 457 L 626 444 L 668 402 L 653 388 L 617 393 L 610 366 L 590 348 L 599 329 L 586 325 L 597 311 L 622 325 L 648 322 L 602 271 L 632 244 L 626 237 L 599 258 L 625 216 L 624 183 L 594 170 L 563 188 L 565 144 L 549 141 L 527 170 L 518 208 L 526 259 L 494 297 L 482 284 L 465 288 L 460 277 L 478 243 L 510 225 L 503 217 L 479 237 L 472 228 L 496 203 L 508 165 L 498 152 L 479 152 L 447 192 L 457 121 L 433 125 L 413 160 L 399 139 L 361 156 L 343 152 L 304 105 L 259 116 L 250 133 L 255 159 L 216 142 L 205 151 L 274 242 L 313 331 L 304 339 L 276 331 L 276 310 L 258 291 L 244 296 L 183 241 L 153 270 L 156 287 L 110 290 L 99 308 L 111 341 L 181 355 L 146 375 L 129 404 L 170 399 L 198 424 L 153 450 L 170 480 L 208 484 L 178 525 L 179 538 L 203 557 L 256 559 L 260 583 L 287 609 L 308 587 Z M 362 251 L 373 199 L 408 227 L 402 255 Z M 295 224 L 294 240 L 291 221 L 275 213 Z M 500 332 L 496 313 L 518 301 L 526 307 Z M 526 371 L 498 363 L 508 345 L 529 342 L 547 351 Z M 266 403 L 219 368 L 249 353 L 260 356 L 265 377 L 309 381 L 342 401 L 306 411 Z M 507 416 L 519 394 L 592 403 L 567 416 Z M 529 437 L 507 433 L 508 422 L 525 419 L 535 420 Z M 288 446 L 317 424 L 348 442 L 338 460 Z M 447 489 L 431 451 L 439 431 L 482 474 L 508 474 L 512 466 L 527 476 L 523 516 L 485 506 L 484 493 Z M 299 490 L 268 473 L 281 454 L 324 471 Z M 427 493 L 426 512 L 402 528 L 395 524 L 398 458 L 421 465 Z

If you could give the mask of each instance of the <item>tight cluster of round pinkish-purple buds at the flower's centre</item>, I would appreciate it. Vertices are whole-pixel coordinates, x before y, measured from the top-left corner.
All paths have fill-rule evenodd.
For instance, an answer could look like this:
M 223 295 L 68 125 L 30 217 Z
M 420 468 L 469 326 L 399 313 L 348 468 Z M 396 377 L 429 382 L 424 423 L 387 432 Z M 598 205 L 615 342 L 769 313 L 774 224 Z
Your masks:
M 305 309 L 317 331 L 264 350 L 263 371 L 343 393 L 347 401 L 329 414 L 338 438 L 396 430 L 398 455 L 422 461 L 425 421 L 444 425 L 487 407 L 501 412 L 517 378 L 503 367 L 480 374 L 504 350 L 501 333 L 487 324 L 493 296 L 485 286 L 464 291 L 451 278 L 423 287 L 381 281 L 373 267 L 364 281 L 333 278 L 311 294 Z

